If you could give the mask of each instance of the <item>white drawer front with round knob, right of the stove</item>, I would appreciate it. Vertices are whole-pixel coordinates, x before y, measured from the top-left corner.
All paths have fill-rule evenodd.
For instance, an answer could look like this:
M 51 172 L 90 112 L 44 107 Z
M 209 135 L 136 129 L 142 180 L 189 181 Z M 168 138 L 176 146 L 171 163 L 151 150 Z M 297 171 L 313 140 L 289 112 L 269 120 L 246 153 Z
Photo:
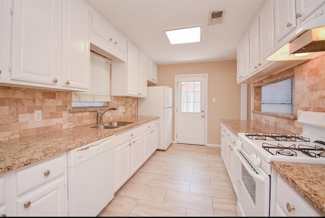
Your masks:
M 293 187 L 278 175 L 277 185 L 277 204 L 280 205 L 282 210 L 287 216 L 321 216 L 321 214 L 306 201 Z M 289 212 L 288 207 L 293 206 Z

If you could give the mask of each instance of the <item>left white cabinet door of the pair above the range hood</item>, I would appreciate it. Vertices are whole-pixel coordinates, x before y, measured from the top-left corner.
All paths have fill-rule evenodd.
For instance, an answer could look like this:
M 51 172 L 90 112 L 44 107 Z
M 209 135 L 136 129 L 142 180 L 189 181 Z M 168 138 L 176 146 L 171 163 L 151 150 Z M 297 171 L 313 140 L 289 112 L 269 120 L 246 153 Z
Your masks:
M 274 0 L 274 26 L 276 43 L 296 28 L 295 0 Z

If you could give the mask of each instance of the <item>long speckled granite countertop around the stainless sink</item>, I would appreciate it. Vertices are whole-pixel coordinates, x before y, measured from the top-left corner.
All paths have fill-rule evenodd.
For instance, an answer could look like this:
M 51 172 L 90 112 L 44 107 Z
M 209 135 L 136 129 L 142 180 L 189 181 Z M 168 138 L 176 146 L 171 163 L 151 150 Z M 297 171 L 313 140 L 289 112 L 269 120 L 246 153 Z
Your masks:
M 115 129 L 91 128 L 96 126 L 96 124 L 90 124 L 40 135 L 0 141 L 0 174 L 79 148 L 158 118 L 134 116 L 118 119 L 118 121 L 133 122 L 133 124 Z

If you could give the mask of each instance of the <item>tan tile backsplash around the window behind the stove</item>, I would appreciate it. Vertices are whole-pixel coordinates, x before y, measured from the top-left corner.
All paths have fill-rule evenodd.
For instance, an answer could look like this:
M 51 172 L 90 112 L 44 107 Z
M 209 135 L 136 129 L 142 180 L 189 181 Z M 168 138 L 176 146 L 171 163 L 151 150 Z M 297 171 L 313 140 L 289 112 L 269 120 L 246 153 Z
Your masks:
M 295 77 L 294 116 L 273 116 L 261 111 L 261 85 L 282 78 Z M 297 111 L 325 112 L 325 55 L 291 67 L 276 75 L 253 84 L 254 107 L 252 120 L 285 130 L 302 133 L 302 124 L 297 122 Z

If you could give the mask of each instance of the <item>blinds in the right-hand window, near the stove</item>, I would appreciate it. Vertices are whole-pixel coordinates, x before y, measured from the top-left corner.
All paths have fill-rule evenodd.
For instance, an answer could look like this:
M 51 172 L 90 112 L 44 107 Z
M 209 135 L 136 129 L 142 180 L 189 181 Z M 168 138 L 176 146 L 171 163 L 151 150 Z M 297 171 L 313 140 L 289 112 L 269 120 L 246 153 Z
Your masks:
M 294 114 L 294 79 L 287 79 L 262 87 L 262 112 Z

